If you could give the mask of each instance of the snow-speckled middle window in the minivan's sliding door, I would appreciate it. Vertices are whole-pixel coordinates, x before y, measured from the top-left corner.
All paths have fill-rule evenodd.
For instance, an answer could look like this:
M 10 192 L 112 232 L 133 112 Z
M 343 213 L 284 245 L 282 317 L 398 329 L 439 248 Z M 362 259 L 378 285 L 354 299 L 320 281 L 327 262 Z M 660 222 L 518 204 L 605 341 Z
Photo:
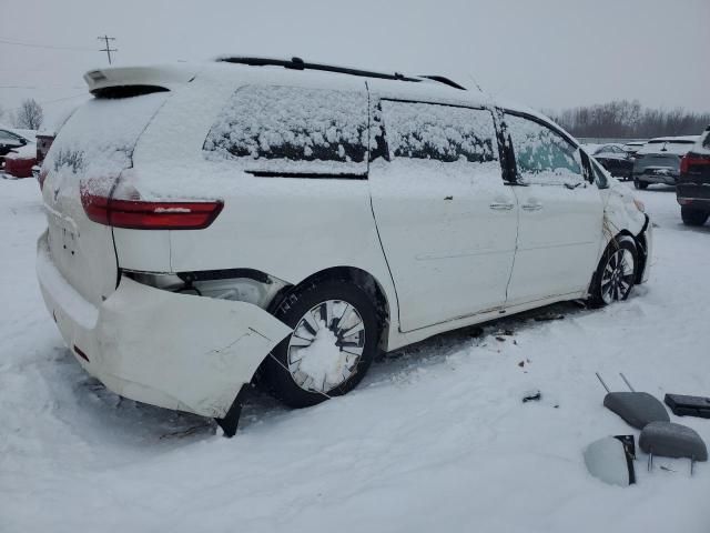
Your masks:
M 382 102 L 390 158 L 497 161 L 490 111 L 418 102 Z

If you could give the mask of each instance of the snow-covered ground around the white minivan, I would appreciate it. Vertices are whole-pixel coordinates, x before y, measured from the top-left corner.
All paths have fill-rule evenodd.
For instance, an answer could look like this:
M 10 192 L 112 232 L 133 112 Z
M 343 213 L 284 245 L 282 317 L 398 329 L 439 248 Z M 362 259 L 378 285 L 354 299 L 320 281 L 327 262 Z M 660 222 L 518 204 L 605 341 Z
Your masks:
M 710 531 L 710 464 L 646 456 L 638 484 L 590 476 L 582 450 L 636 434 L 601 405 L 621 390 L 710 395 L 710 225 L 670 189 L 639 193 L 656 228 L 628 302 L 440 335 L 389 354 L 345 398 L 287 411 L 252 398 L 233 440 L 123 400 L 62 345 L 34 280 L 34 180 L 0 180 L 0 532 Z M 562 314 L 562 320 L 534 316 Z M 523 404 L 530 389 L 540 402 Z M 710 420 L 672 420 L 710 442 Z M 666 466 L 672 471 L 662 470 Z

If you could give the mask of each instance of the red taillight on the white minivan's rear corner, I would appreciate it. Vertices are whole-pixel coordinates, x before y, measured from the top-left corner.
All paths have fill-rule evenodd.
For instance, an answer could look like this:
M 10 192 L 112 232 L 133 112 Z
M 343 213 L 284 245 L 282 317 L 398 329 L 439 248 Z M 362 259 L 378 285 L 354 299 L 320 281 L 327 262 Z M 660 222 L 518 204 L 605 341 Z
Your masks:
M 90 220 L 99 224 L 133 230 L 202 230 L 222 211 L 224 203 L 150 202 L 121 200 L 82 188 L 81 203 Z

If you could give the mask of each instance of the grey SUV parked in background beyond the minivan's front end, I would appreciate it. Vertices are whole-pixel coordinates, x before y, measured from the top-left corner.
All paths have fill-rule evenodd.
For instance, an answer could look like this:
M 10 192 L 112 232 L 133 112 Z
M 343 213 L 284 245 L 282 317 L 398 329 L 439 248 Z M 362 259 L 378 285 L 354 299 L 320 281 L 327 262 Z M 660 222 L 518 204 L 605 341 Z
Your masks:
M 633 185 L 646 189 L 651 183 L 674 185 L 680 173 L 680 160 L 690 151 L 698 135 L 661 137 L 648 141 L 633 161 Z

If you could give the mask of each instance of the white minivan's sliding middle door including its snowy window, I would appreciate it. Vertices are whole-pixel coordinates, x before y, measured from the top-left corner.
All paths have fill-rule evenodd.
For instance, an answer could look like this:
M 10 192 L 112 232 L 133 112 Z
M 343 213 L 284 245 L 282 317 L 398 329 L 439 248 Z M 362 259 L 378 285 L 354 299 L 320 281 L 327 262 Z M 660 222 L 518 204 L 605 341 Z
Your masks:
M 501 308 L 518 213 L 491 112 L 382 100 L 382 123 L 369 184 L 402 330 Z

